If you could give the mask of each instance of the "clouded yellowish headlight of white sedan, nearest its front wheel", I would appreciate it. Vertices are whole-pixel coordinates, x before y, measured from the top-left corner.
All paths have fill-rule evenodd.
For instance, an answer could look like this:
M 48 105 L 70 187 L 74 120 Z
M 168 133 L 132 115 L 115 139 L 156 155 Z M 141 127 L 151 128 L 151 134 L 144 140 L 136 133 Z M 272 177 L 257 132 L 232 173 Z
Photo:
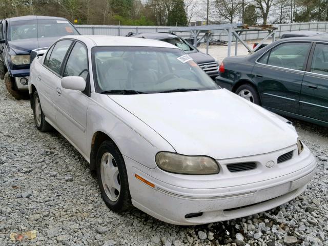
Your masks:
M 217 174 L 216 161 L 208 156 L 188 156 L 171 152 L 159 152 L 155 157 L 157 166 L 165 171 L 179 174 Z

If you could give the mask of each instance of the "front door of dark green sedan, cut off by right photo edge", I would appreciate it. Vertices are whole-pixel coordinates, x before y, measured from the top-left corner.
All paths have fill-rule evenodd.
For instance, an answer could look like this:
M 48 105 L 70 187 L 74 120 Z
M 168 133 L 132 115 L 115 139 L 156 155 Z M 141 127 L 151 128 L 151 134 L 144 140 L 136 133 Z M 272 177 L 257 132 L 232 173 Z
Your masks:
M 299 113 L 328 122 L 328 44 L 316 43 L 302 83 Z

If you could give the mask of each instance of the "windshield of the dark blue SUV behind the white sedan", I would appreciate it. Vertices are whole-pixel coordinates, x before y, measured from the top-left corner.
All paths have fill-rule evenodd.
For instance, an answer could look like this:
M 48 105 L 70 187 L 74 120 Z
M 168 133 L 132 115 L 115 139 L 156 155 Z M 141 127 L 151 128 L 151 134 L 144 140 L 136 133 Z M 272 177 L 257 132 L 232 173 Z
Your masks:
M 76 29 L 67 20 L 18 20 L 11 22 L 9 26 L 9 40 L 12 41 L 65 35 L 78 35 Z

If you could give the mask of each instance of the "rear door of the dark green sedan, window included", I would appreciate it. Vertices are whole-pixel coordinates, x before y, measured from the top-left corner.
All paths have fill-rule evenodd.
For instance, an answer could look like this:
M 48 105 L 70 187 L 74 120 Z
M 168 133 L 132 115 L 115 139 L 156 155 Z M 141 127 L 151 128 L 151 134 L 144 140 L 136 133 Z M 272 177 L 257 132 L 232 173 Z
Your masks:
M 261 56 L 252 71 L 263 107 L 299 112 L 302 79 L 311 42 L 286 42 Z

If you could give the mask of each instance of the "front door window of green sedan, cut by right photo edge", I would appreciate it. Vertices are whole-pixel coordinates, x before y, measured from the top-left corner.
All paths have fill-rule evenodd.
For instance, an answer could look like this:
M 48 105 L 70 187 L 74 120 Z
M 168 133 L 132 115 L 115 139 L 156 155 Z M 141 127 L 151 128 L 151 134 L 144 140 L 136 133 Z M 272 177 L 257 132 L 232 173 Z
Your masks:
M 328 45 L 316 44 L 310 72 L 328 75 Z

